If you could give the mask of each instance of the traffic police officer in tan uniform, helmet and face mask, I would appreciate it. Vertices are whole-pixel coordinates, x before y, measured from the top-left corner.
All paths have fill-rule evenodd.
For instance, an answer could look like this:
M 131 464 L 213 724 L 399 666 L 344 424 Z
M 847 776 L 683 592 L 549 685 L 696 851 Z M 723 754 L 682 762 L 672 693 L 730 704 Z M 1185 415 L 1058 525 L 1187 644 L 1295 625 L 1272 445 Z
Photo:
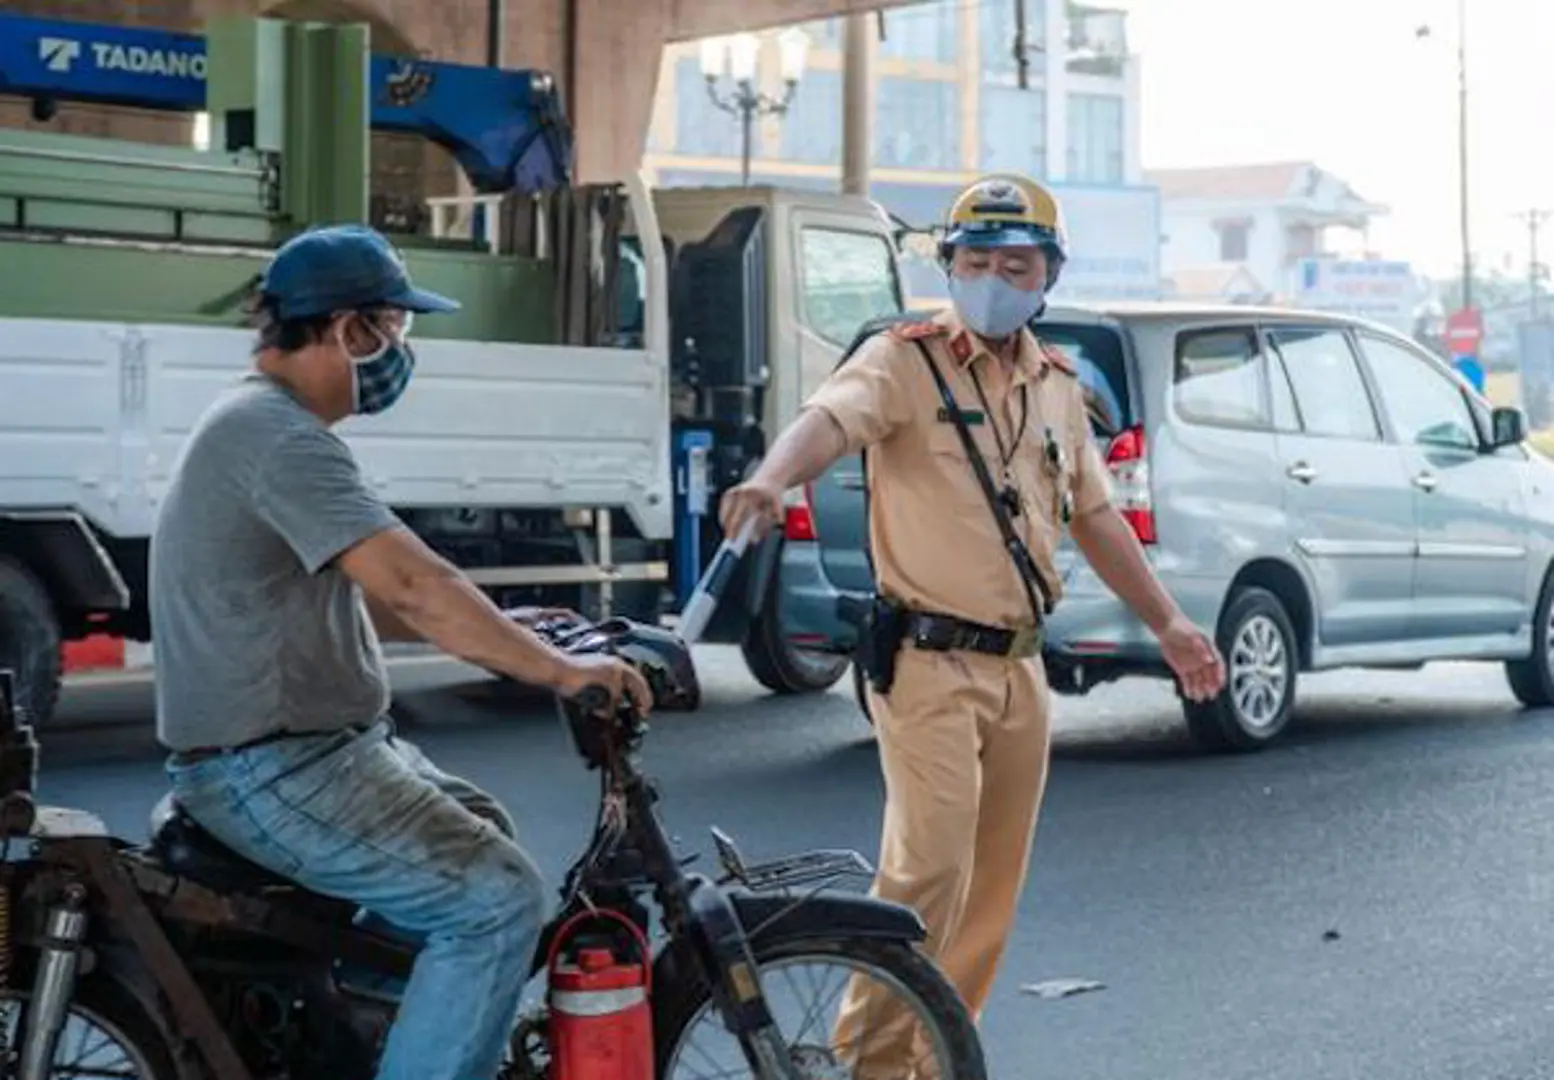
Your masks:
M 730 536 L 751 517 L 771 527 L 786 489 L 867 451 L 876 587 L 901 612 L 898 651 L 887 642 L 894 657 L 872 660 L 894 659 L 894 679 L 884 693 L 878 679 L 869 690 L 886 782 L 873 892 L 917 909 L 929 951 L 976 1016 L 1013 923 L 1046 786 L 1046 612 L 1032 609 L 1037 594 L 1005 547 L 925 347 L 1030 552 L 1038 592 L 1052 601 L 1061 592 L 1054 552 L 1066 527 L 1158 636 L 1186 696 L 1214 698 L 1225 682 L 1214 643 L 1161 589 L 1110 500 L 1072 364 L 1027 329 L 1064 256 L 1058 205 L 1041 185 L 1013 176 L 973 183 L 943 242 L 953 311 L 866 340 L 720 508 Z M 838 1040 L 864 1040 L 869 1075 L 909 1075 L 911 1021 L 900 1010 L 887 1019 L 883 1005 L 855 981 Z M 869 1032 L 859 1030 L 866 1015 Z

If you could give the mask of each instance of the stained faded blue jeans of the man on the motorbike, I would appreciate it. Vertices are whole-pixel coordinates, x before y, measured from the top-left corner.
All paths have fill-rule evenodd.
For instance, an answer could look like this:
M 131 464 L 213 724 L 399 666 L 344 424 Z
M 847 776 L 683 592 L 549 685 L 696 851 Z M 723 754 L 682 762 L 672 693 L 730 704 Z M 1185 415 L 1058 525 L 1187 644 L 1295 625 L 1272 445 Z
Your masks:
M 378 1080 L 493 1080 L 544 923 L 539 869 L 491 796 L 379 721 L 168 763 L 207 831 L 424 940 Z

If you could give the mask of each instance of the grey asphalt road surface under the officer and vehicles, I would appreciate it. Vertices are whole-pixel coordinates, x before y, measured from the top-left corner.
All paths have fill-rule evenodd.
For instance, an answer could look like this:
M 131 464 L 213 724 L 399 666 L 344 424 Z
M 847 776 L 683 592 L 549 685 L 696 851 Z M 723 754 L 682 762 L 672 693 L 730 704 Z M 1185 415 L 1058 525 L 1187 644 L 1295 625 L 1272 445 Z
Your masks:
M 763 696 L 702 657 L 707 707 L 665 716 L 646 761 L 687 845 L 873 858 L 881 785 L 850 692 Z M 497 793 L 558 880 L 592 777 L 550 713 L 435 662 L 396 671 L 416 738 Z M 145 834 L 160 796 L 145 687 L 67 696 L 42 794 Z M 984 1019 L 1012 1080 L 1554 1077 L 1554 713 L 1500 670 L 1307 682 L 1260 755 L 1195 757 L 1159 687 L 1058 702 L 1058 751 L 1021 923 Z M 1052 979 L 1103 988 L 1023 993 Z

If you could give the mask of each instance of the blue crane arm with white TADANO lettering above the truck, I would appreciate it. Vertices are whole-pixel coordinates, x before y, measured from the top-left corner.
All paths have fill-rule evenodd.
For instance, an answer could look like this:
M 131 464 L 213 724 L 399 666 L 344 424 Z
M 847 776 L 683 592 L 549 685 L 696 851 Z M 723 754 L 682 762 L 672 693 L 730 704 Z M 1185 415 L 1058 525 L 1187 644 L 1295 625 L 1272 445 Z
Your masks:
M 438 143 L 477 191 L 566 185 L 572 132 L 549 76 L 398 56 L 370 67 L 371 126 Z M 0 14 L 0 93 L 199 112 L 205 39 Z

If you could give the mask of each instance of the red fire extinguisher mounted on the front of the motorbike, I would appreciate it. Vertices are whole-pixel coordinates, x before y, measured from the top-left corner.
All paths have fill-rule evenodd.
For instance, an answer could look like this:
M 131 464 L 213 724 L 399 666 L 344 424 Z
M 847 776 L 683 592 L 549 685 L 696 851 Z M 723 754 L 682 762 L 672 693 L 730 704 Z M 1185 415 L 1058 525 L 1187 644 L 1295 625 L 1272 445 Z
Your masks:
M 561 960 L 567 932 L 586 918 L 614 918 L 637 942 L 639 959 L 584 946 Z M 653 956 L 636 923 L 612 911 L 567 920 L 545 963 L 550 1002 L 550 1080 L 653 1080 Z

